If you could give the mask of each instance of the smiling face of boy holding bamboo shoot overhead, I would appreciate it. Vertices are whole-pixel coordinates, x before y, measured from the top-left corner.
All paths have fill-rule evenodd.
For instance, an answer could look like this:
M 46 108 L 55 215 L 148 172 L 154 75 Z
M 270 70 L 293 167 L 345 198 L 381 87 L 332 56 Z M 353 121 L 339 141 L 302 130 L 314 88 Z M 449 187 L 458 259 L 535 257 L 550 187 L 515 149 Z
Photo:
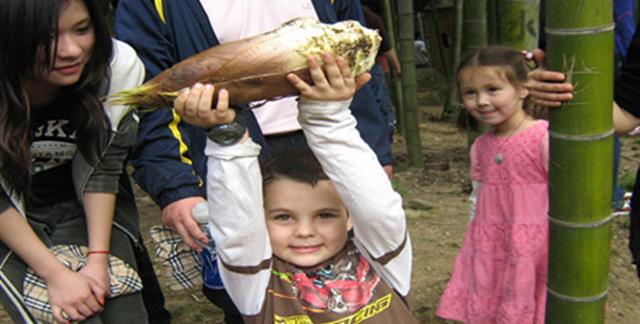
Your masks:
M 351 218 L 329 180 L 315 187 L 275 180 L 265 188 L 264 207 L 273 253 L 291 264 L 318 265 L 347 242 Z

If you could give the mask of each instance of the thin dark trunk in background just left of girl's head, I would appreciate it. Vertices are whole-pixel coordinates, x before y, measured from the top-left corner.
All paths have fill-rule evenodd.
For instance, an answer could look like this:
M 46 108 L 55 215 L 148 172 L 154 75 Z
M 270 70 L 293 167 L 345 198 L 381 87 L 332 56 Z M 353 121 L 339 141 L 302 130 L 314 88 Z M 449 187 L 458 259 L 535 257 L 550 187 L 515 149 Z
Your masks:
M 473 1 L 473 0 L 468 0 Z M 442 120 L 457 119 L 460 114 L 460 103 L 458 102 L 458 87 L 456 86 L 455 71 L 460 65 L 460 52 L 462 50 L 462 6 L 464 0 L 453 1 L 453 60 L 451 62 L 451 71 L 447 79 L 447 99 L 442 109 Z

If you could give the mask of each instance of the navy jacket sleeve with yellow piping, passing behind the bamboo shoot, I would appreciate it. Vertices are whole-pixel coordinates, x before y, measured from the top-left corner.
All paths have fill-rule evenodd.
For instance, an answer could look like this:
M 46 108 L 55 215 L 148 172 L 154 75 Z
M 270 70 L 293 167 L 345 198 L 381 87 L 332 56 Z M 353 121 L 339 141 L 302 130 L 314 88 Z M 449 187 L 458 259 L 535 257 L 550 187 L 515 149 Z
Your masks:
M 116 10 L 116 37 L 134 47 L 147 79 L 177 63 L 176 48 L 164 15 L 151 0 L 121 0 Z M 192 149 L 198 140 L 192 126 L 173 109 L 140 114 L 138 140 L 131 156 L 136 182 L 160 205 L 204 196 L 203 182 L 194 168 Z M 204 146 L 204 140 L 199 139 Z

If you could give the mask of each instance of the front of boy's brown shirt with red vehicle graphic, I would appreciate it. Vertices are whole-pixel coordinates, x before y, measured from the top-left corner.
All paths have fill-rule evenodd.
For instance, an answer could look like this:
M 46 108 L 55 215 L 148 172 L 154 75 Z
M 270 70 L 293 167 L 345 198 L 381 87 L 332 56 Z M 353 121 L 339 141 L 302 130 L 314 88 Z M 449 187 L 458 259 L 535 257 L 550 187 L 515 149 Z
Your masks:
M 353 243 L 315 271 L 274 257 L 261 312 L 246 323 L 414 323 L 406 300 Z

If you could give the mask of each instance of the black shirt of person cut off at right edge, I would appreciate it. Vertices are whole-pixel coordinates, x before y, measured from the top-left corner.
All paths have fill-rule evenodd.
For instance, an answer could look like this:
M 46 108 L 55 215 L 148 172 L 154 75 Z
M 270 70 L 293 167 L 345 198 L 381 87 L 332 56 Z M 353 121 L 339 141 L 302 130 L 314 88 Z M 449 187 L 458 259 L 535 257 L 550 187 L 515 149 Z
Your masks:
M 627 51 L 627 59 L 620 67 L 615 85 L 615 101 L 620 108 L 640 118 L 640 28 L 636 28 Z

